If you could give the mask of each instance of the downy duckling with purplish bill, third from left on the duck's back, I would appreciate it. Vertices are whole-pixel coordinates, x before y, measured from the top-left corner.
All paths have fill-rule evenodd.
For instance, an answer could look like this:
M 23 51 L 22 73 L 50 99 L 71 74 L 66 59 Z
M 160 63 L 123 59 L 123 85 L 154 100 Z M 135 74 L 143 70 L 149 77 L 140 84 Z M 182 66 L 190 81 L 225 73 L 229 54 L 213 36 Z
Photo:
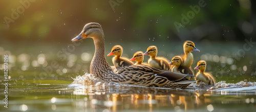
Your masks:
M 150 46 L 147 48 L 146 52 L 143 55 L 150 55 L 150 59 L 148 59 L 148 64 L 154 68 L 162 69 L 169 71 L 169 61 L 168 59 L 164 57 L 156 57 L 157 56 L 157 47 L 156 46 Z

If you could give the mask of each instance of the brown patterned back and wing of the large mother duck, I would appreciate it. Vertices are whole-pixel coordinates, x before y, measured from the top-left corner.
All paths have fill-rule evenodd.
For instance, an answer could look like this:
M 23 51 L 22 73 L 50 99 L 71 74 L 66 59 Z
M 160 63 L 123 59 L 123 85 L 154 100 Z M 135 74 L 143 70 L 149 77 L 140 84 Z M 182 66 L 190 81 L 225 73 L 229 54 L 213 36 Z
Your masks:
M 187 80 L 186 75 L 158 70 L 151 66 L 130 65 L 120 68 L 113 76 L 113 82 L 148 87 L 185 88 L 195 80 Z

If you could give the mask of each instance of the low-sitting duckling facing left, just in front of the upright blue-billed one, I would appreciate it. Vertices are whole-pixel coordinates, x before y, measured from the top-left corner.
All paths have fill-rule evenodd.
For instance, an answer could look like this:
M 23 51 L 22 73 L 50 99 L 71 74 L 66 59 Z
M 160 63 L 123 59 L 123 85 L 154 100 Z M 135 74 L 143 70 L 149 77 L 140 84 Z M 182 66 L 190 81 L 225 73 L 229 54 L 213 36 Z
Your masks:
M 173 57 L 172 61 L 169 62 L 169 64 L 174 65 L 172 72 L 193 75 L 193 72 L 191 71 L 191 69 L 185 66 L 182 66 L 182 62 L 183 61 L 180 56 Z M 187 78 L 191 79 L 191 77 L 187 77 Z

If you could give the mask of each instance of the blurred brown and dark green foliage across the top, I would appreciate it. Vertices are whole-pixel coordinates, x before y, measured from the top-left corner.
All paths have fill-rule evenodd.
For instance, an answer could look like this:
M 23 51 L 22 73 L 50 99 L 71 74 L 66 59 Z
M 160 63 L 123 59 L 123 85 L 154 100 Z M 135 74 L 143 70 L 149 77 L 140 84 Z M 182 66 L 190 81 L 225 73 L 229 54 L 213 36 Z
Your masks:
M 110 4 L 112 2 L 112 5 Z M 1 1 L 1 42 L 70 42 L 89 22 L 102 25 L 108 40 L 155 41 L 243 40 L 255 36 L 243 31 L 243 23 L 255 26 L 254 1 L 211 1 L 177 31 L 181 14 L 193 11 L 198 1 Z M 24 7 L 22 3 L 26 3 Z M 115 3 L 113 5 L 113 3 Z M 23 7 L 24 11 L 22 8 Z M 113 10 L 114 9 L 114 10 Z M 13 11 L 15 10 L 15 11 Z M 23 13 L 17 13 L 17 11 Z M 16 19 L 13 13 L 18 14 Z M 13 19 L 7 27 L 5 17 Z M 247 27 L 247 26 L 245 26 Z M 245 28 L 246 30 L 246 28 Z M 167 38 L 168 37 L 168 38 Z

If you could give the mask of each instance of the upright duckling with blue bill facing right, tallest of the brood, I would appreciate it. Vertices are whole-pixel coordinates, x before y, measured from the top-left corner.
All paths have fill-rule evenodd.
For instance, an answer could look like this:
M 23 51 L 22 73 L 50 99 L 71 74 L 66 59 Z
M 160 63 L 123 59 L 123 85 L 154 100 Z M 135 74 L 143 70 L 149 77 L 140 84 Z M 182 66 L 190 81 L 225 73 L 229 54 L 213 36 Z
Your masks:
M 194 57 L 193 54 L 190 53 L 191 51 L 197 51 L 200 52 L 200 50 L 198 50 L 195 47 L 195 43 L 193 41 L 185 41 L 183 44 L 183 50 L 184 50 L 184 55 L 181 55 L 182 60 L 184 61 L 182 63 L 182 66 L 187 67 L 189 69 L 191 69 L 191 65 L 193 63 Z

